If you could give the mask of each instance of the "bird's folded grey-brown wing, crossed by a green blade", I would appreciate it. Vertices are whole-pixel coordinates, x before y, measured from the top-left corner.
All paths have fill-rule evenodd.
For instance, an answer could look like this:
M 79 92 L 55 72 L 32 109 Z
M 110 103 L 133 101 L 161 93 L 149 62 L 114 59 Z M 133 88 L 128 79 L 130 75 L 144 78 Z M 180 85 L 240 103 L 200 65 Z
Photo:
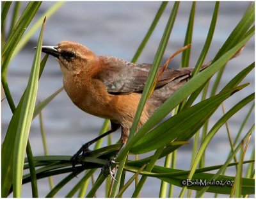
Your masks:
M 100 57 L 100 56 L 99 56 Z M 102 59 L 103 58 L 103 59 Z M 126 95 L 132 92 L 142 92 L 148 78 L 151 64 L 134 64 L 114 57 L 100 57 L 101 70 L 95 78 L 102 81 L 108 92 L 114 95 Z M 161 70 L 161 67 L 159 68 Z M 188 77 L 191 68 L 166 69 L 156 83 L 156 89 L 170 83 L 177 77 Z

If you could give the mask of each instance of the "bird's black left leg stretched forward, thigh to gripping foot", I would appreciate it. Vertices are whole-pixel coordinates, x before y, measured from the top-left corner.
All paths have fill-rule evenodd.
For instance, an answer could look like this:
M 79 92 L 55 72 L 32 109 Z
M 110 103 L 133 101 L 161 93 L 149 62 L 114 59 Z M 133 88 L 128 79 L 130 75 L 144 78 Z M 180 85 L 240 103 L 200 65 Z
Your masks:
M 100 135 L 99 137 L 97 137 L 91 141 L 88 141 L 88 143 L 85 143 L 81 148 L 79 148 L 79 150 L 76 152 L 76 154 L 74 154 L 70 159 L 70 161 L 72 162 L 72 168 L 73 168 L 74 175 L 76 175 L 76 164 L 81 163 L 83 165 L 84 157 L 86 157 L 86 154 L 88 154 L 88 152 L 90 152 L 90 150 L 89 150 L 90 145 L 92 145 L 99 139 L 104 138 L 108 134 L 111 134 L 111 132 L 115 132 L 119 127 L 120 127 L 120 124 L 111 122 L 111 130 L 105 132 L 104 134 Z

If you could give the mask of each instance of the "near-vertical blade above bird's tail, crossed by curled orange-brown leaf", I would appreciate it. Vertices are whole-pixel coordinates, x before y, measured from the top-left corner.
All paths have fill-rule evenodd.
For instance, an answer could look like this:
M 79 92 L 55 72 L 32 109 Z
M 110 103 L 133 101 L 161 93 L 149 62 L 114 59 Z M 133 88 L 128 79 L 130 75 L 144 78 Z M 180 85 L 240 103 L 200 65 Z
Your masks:
M 194 27 L 194 19 L 195 19 L 195 10 L 196 10 L 196 2 L 193 1 L 189 20 L 188 20 L 188 27 L 186 31 L 184 46 L 188 44 L 192 44 L 192 36 L 193 36 L 193 27 Z M 182 59 L 181 59 L 181 67 L 189 67 L 189 58 L 190 58 L 190 51 L 191 48 L 186 49 L 182 52 Z

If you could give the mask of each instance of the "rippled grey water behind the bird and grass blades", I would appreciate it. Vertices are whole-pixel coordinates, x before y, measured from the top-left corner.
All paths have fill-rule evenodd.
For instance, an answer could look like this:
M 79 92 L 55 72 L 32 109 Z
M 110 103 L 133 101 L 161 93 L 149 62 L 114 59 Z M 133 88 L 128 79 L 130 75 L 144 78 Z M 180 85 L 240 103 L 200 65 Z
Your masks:
M 40 7 L 36 19 L 42 15 L 52 4 L 52 2 L 44 2 Z M 246 2 L 221 2 L 216 31 L 212 39 L 211 48 L 205 60 L 205 63 L 211 61 L 218 52 L 221 45 L 225 42 L 232 29 L 241 19 L 249 3 Z M 124 60 L 131 60 L 140 45 L 143 36 L 150 26 L 154 15 L 159 8 L 160 2 L 68 2 L 61 6 L 51 18 L 47 19 L 47 24 L 44 31 L 44 45 L 56 45 L 61 40 L 73 40 L 86 45 L 93 52 L 100 55 L 116 56 Z M 172 10 L 173 3 L 169 3 L 156 30 L 151 36 L 147 46 L 138 60 L 138 63 L 152 63 L 158 44 L 163 35 L 164 27 L 168 20 L 168 15 Z M 172 35 L 169 44 L 166 48 L 164 60 L 166 60 L 173 52 L 180 49 L 184 44 L 186 34 L 186 26 L 191 8 L 191 3 L 180 3 L 177 20 L 173 26 Z M 214 3 L 197 3 L 196 15 L 193 32 L 193 46 L 191 48 L 191 67 L 200 56 L 200 51 L 205 42 L 209 24 L 211 22 Z M 10 24 L 10 17 L 7 21 Z M 38 33 L 33 36 L 26 47 L 15 57 L 10 63 L 8 70 L 8 82 L 10 92 L 12 93 L 15 104 L 26 88 L 28 83 L 29 71 L 33 62 L 35 51 L 32 49 L 36 45 Z M 164 61 L 163 60 L 163 61 Z M 252 38 L 243 53 L 239 58 L 229 61 L 225 74 L 221 81 L 220 88 L 227 84 L 237 72 L 243 70 L 254 61 L 254 38 Z M 177 68 L 180 65 L 180 56 L 177 56 L 171 63 L 170 67 Z M 243 83 L 250 83 L 249 86 L 235 93 L 230 99 L 225 101 L 226 112 L 230 107 L 234 106 L 241 99 L 250 95 L 254 88 L 254 72 L 244 79 Z M 42 101 L 51 93 L 55 92 L 62 86 L 62 76 L 58 63 L 53 58 L 49 58 L 44 69 L 42 78 L 40 79 L 37 101 Z M 220 90 L 220 89 L 219 89 Z M 248 112 L 252 104 L 246 106 L 232 117 L 228 122 L 232 138 L 235 138 L 237 131 L 243 121 L 244 115 Z M 2 102 L 2 140 L 6 133 L 8 123 L 12 117 L 10 108 L 6 100 Z M 72 155 L 86 141 L 95 138 L 102 126 L 103 119 L 84 113 L 78 109 L 65 92 L 61 92 L 49 106 L 43 111 L 44 127 L 47 137 L 47 146 L 50 155 Z M 209 128 L 223 115 L 221 109 L 218 109 L 211 118 Z M 250 129 L 254 122 L 254 115 L 250 116 L 243 134 Z M 113 133 L 113 141 L 120 138 L 120 131 Z M 252 139 L 248 153 L 245 159 L 250 158 L 250 152 L 254 145 Z M 29 141 L 33 150 L 33 155 L 43 155 L 42 139 L 40 136 L 38 118 L 33 120 Z M 104 140 L 106 145 L 106 140 Z M 177 153 L 177 168 L 189 170 L 191 159 L 191 147 L 193 140 L 189 145 L 180 147 Z M 225 163 L 225 159 L 230 151 L 227 131 L 225 127 L 221 127 L 217 135 L 212 139 L 206 155 L 205 166 Z M 142 155 L 141 155 L 142 157 Z M 131 157 L 133 159 L 133 157 Z M 158 164 L 163 165 L 164 159 L 161 159 Z M 246 168 L 246 166 L 244 166 Z M 99 172 L 98 172 L 99 173 Z M 95 175 L 97 177 L 98 173 Z M 235 171 L 230 169 L 227 175 L 235 175 Z M 131 176 L 131 175 L 129 175 Z M 54 177 L 54 184 L 60 182 L 65 175 Z M 67 194 L 67 191 L 81 179 L 74 179 L 73 184 L 68 184 L 56 196 L 62 197 Z M 127 178 L 128 179 L 128 178 Z M 49 192 L 47 179 L 38 181 L 39 196 L 44 197 Z M 141 196 L 143 197 L 158 197 L 160 181 L 153 178 L 148 178 L 145 186 L 142 189 Z M 88 189 L 92 187 L 89 184 Z M 97 192 L 97 196 L 104 196 L 103 187 Z M 134 191 L 134 186 L 129 187 L 124 193 L 124 196 L 130 197 Z M 179 196 L 180 187 L 175 187 L 175 196 Z M 22 196 L 31 197 L 31 185 L 26 184 L 22 189 Z M 205 196 L 213 196 L 206 194 Z M 222 195 L 220 195 L 222 196 Z

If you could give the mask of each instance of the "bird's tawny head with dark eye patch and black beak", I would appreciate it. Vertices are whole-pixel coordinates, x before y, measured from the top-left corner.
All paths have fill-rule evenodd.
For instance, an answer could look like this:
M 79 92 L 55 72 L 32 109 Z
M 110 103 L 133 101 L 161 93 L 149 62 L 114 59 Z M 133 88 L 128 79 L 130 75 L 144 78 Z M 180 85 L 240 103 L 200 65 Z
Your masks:
M 56 46 L 42 46 L 42 52 L 50 54 L 60 63 L 63 72 L 77 74 L 81 70 L 90 70 L 88 66 L 95 61 L 95 54 L 87 47 L 70 41 L 63 41 Z

